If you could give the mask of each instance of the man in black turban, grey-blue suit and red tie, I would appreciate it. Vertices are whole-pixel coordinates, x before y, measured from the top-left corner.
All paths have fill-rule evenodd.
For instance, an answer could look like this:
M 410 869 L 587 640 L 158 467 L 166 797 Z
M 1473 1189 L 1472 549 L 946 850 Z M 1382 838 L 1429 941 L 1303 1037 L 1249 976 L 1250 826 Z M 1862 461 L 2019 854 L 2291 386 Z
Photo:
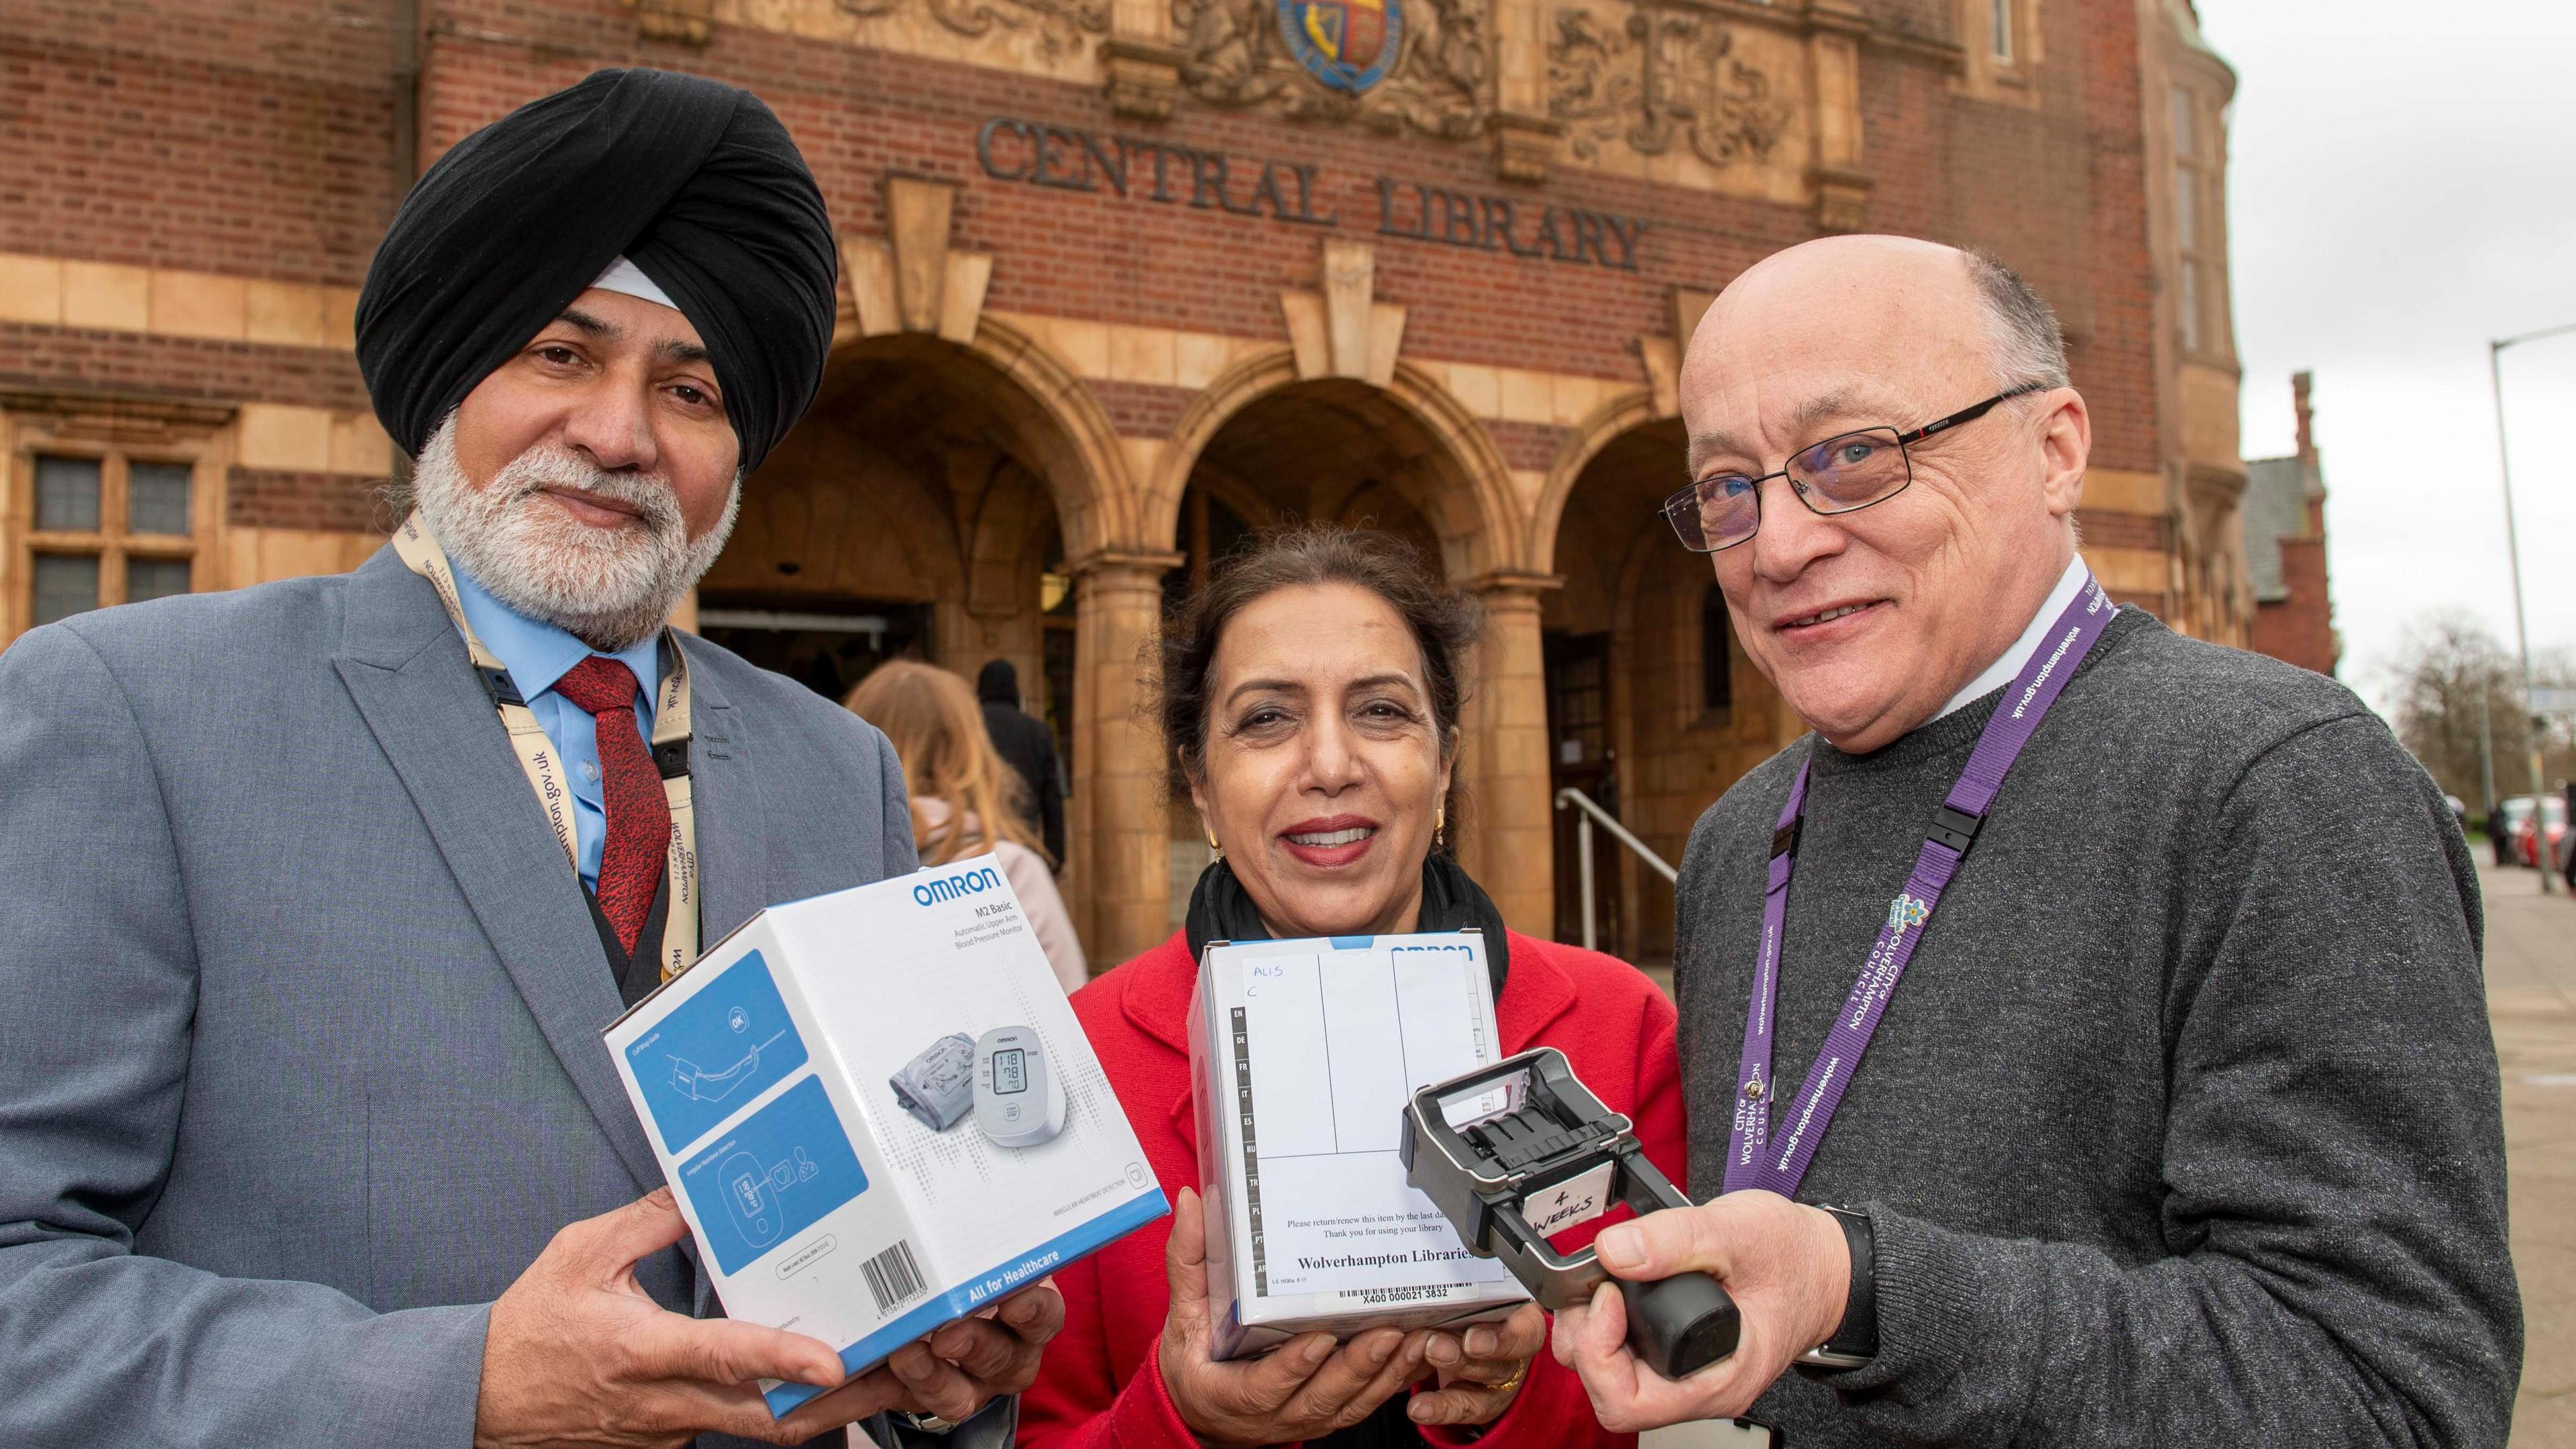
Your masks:
M 884 735 L 665 629 L 832 289 L 768 106 L 598 72 L 376 253 L 384 552 L 0 655 L 0 1441 L 1010 1441 L 1051 1287 L 858 1377 L 693 1318 L 600 1047 L 762 905 L 914 869 Z

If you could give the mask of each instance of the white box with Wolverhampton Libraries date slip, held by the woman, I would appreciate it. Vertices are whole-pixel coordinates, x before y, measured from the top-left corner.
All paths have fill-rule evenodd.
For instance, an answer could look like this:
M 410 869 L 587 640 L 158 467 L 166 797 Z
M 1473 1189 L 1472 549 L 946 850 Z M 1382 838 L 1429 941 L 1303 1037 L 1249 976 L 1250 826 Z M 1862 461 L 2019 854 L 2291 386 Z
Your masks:
M 1476 931 L 1208 944 L 1190 1080 L 1221 1359 L 1528 1302 L 1396 1155 L 1414 1088 L 1499 1057 Z

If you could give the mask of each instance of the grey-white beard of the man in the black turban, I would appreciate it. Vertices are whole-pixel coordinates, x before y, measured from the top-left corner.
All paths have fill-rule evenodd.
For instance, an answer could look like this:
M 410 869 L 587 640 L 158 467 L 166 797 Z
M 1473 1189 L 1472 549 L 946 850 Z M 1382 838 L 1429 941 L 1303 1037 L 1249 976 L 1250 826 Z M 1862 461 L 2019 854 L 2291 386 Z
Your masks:
M 641 511 L 641 521 L 629 529 L 574 523 L 538 498 L 546 487 L 618 500 Z M 420 449 L 412 500 L 448 562 L 492 598 L 613 655 L 649 639 L 714 567 L 742 508 L 742 474 L 716 526 L 690 539 L 667 480 L 605 472 L 546 443 L 474 487 L 456 464 L 456 415 L 448 413 Z

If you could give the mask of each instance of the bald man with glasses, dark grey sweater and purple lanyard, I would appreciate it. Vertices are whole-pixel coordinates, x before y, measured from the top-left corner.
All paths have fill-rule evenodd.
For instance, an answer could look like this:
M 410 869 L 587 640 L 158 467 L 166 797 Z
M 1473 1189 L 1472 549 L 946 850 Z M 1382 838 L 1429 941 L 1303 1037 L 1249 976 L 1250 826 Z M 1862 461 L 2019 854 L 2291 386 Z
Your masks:
M 2476 869 L 2339 683 L 2115 606 L 2048 304 L 1901 237 L 1790 248 L 1682 369 L 1677 541 L 1811 727 L 1677 887 L 1716 1274 L 1669 1382 L 1610 1289 L 1610 1428 L 1857 1444 L 2504 1444 L 2522 1312 Z

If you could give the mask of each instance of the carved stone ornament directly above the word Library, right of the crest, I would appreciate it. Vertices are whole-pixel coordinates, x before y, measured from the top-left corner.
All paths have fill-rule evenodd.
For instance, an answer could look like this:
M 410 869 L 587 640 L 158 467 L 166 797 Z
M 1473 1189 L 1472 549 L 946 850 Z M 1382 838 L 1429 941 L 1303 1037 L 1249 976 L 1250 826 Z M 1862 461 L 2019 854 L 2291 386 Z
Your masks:
M 1664 155 L 1687 137 L 1700 160 L 1726 168 L 1772 160 L 1795 108 L 1710 15 L 1638 5 L 1625 23 L 1605 23 L 1564 5 L 1548 36 L 1548 116 L 1569 126 L 1577 160 L 1600 160 L 1605 142 Z

